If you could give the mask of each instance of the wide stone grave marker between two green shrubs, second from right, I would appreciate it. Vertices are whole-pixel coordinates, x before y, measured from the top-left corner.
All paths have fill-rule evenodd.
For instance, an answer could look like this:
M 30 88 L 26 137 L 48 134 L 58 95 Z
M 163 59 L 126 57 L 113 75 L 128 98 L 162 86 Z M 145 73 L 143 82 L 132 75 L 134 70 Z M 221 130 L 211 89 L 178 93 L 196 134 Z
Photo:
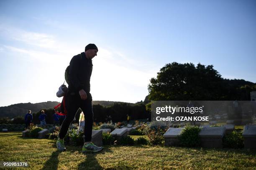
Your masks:
M 222 148 L 222 138 L 225 134 L 225 127 L 204 127 L 199 133 L 201 146 L 207 148 Z

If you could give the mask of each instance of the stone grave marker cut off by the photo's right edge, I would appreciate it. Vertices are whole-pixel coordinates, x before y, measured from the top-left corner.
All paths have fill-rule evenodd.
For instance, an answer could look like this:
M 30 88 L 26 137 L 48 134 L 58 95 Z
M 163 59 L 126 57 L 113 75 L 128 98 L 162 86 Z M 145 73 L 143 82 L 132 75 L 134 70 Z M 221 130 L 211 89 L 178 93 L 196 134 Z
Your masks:
M 244 148 L 256 149 L 256 126 L 243 127 Z

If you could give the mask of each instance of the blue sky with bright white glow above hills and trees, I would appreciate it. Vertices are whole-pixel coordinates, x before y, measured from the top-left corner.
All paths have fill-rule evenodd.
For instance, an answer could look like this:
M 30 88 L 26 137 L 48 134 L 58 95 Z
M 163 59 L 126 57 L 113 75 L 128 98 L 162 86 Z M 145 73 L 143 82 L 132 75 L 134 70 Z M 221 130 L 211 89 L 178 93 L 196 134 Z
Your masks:
M 72 56 L 95 43 L 93 100 L 144 100 L 166 63 L 256 83 L 256 1 L 0 1 L 0 106 L 61 101 Z

